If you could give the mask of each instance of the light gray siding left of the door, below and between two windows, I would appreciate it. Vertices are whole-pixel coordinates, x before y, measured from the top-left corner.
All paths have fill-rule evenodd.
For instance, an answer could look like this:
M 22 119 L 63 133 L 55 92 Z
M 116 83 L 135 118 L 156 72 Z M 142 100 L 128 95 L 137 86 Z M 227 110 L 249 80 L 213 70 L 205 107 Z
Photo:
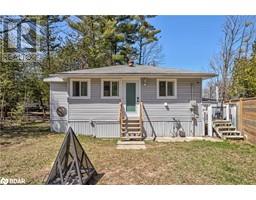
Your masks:
M 91 79 L 90 99 L 68 98 L 69 124 L 83 135 L 120 137 L 119 102 L 119 99 L 101 99 L 101 79 Z

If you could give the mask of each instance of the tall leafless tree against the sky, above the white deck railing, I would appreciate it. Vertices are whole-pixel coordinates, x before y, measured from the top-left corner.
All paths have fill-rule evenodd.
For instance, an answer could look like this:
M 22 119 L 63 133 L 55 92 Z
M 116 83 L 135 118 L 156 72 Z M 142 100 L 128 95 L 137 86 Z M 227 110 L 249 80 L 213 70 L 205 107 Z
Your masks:
M 222 102 L 228 98 L 228 88 L 233 72 L 234 62 L 242 56 L 248 56 L 255 38 L 255 22 L 249 17 L 229 16 L 223 26 L 223 39 L 220 50 L 210 62 L 210 67 L 219 76 L 214 84 L 219 87 Z

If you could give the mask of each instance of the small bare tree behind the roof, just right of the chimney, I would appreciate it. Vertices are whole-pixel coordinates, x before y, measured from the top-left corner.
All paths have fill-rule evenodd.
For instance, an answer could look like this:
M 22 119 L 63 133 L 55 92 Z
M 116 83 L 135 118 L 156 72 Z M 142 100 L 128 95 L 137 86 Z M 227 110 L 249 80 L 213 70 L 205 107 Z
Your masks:
M 157 41 L 143 46 L 141 64 L 156 66 L 162 64 L 163 60 L 162 46 Z

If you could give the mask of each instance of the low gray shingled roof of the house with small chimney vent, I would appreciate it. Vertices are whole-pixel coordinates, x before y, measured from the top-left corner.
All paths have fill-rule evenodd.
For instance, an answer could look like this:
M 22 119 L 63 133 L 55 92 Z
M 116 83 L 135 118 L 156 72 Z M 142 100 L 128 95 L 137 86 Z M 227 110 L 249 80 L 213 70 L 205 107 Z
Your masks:
M 196 72 L 185 69 L 177 69 L 170 67 L 154 67 L 148 65 L 115 65 L 100 68 L 87 68 L 82 70 L 66 71 L 54 74 L 61 78 L 81 77 L 81 76 L 185 76 L 185 77 L 199 77 L 210 78 L 216 76 L 214 73 Z

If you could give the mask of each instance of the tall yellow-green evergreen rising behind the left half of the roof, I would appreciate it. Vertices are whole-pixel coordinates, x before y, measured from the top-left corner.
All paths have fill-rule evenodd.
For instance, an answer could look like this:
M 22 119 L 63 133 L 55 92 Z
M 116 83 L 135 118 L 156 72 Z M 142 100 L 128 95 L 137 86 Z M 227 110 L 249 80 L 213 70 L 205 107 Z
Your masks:
M 111 64 L 112 23 L 104 16 L 79 16 L 78 21 L 69 21 L 70 27 L 78 33 L 76 57 L 80 68 L 102 67 Z

